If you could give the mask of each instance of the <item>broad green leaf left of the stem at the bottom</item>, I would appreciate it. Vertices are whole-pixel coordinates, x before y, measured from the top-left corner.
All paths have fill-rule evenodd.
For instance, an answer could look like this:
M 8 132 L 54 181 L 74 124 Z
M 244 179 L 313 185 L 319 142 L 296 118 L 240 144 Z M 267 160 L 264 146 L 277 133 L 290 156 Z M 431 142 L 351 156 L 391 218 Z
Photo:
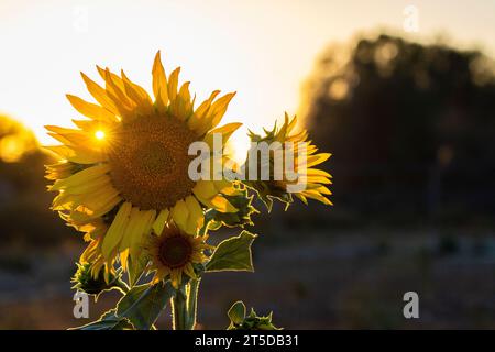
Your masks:
M 150 330 L 175 293 L 169 282 L 134 286 L 117 304 L 117 316 L 139 330 Z

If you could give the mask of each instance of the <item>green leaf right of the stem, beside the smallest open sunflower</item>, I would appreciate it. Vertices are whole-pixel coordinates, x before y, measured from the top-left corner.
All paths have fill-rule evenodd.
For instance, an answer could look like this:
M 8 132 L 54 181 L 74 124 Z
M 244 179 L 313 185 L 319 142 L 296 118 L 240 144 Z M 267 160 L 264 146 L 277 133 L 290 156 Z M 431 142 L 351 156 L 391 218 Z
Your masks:
M 251 244 L 255 238 L 256 234 L 242 231 L 241 234 L 222 241 L 206 265 L 206 272 L 254 272 Z

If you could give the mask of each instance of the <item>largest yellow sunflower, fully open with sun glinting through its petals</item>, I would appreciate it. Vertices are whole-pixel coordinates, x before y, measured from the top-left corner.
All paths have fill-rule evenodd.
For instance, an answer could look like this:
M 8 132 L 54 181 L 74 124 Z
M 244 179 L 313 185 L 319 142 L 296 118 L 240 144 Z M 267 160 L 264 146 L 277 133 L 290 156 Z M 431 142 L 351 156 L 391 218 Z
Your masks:
M 75 129 L 46 127 L 63 143 L 47 146 L 61 158 L 47 166 L 46 177 L 54 180 L 48 189 L 59 193 L 53 209 L 86 232 L 90 244 L 81 258 L 96 263 L 95 273 L 103 265 L 109 270 L 118 257 L 125 270 L 153 227 L 173 220 L 194 234 L 206 210 L 237 211 L 226 198 L 234 191 L 232 182 L 189 178 L 194 156 L 188 148 L 196 141 L 211 145 L 213 133 L 227 142 L 241 125 L 217 127 L 234 94 L 218 98 L 216 90 L 195 108 L 189 82 L 178 88 L 180 68 L 167 77 L 160 52 L 153 65 L 154 99 L 123 72 L 97 68 L 105 88 L 81 75 L 98 103 L 67 95 L 89 119 L 73 120 Z

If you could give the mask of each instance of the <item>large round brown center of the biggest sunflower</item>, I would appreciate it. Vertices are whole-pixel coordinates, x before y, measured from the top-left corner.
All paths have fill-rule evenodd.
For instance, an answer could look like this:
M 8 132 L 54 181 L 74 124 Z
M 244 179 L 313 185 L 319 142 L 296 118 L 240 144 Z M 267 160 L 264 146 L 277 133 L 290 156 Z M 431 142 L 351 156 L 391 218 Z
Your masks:
M 142 117 L 122 124 L 109 139 L 111 178 L 121 196 L 145 209 L 165 209 L 191 194 L 187 154 L 197 141 L 172 117 Z

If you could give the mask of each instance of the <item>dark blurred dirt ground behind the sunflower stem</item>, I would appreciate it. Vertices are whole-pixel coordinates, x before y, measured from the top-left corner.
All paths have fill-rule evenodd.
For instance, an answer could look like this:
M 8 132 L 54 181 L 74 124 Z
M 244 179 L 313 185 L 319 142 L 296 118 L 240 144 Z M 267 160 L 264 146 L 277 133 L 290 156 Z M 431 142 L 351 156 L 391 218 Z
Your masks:
M 324 239 L 324 240 L 322 240 Z M 495 328 L 495 235 L 413 231 L 305 233 L 287 243 L 256 240 L 256 273 L 204 277 L 198 322 L 224 329 L 227 310 L 243 300 L 274 311 L 286 329 Z M 0 329 L 66 329 L 114 305 L 111 293 L 75 319 L 69 277 L 80 248 L 22 258 L 0 256 Z M 62 253 L 62 254 L 61 254 Z M 10 255 L 10 256 L 9 256 Z M 419 295 L 419 319 L 405 319 L 403 296 Z M 157 326 L 169 328 L 169 314 Z

